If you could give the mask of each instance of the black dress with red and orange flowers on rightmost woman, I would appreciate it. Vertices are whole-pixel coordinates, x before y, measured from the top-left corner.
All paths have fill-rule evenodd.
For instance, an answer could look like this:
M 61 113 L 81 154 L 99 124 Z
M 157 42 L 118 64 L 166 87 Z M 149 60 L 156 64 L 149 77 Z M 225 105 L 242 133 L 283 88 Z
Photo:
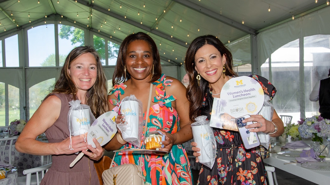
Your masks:
M 249 76 L 260 83 L 264 94 L 272 99 L 275 87 L 258 75 Z M 213 97 L 209 91 L 204 97 L 200 114 L 211 119 Z M 245 149 L 237 131 L 213 128 L 216 141 L 216 159 L 212 169 L 202 165 L 197 184 L 201 185 L 267 185 L 266 171 L 259 146 Z

